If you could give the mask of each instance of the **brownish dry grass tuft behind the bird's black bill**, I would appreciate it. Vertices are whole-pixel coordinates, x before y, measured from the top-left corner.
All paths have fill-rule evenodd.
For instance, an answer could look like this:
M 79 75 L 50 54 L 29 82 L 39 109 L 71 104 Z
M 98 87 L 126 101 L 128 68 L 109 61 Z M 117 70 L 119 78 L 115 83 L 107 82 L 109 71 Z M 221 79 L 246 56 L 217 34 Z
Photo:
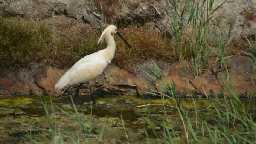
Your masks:
M 120 68 L 133 72 L 134 66 L 149 58 L 170 62 L 173 60 L 171 44 L 159 34 L 148 28 L 130 27 L 121 30 L 122 35 L 131 44 L 128 48 L 119 37 L 116 37 L 116 55 L 113 62 Z

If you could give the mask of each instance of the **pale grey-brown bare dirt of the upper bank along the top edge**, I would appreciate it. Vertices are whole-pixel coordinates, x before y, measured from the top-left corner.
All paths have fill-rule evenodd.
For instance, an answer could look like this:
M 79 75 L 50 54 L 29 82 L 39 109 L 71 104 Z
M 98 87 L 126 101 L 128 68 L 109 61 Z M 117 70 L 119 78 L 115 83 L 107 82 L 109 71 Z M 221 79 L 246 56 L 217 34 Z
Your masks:
M 215 9 L 224 0 L 215 0 Z M 102 6 L 102 7 L 101 7 Z M 179 9 L 182 9 L 180 6 Z M 54 19 L 61 15 L 88 23 L 94 29 L 102 29 L 109 23 L 119 26 L 136 24 L 143 26 L 151 21 L 162 33 L 172 33 L 172 0 L 0 0 L 0 11 L 13 15 L 29 16 L 36 20 Z M 212 32 L 220 35 L 227 20 L 231 22 L 237 14 L 237 23 L 232 35 L 235 39 L 256 33 L 256 2 L 254 0 L 227 0 L 211 20 Z

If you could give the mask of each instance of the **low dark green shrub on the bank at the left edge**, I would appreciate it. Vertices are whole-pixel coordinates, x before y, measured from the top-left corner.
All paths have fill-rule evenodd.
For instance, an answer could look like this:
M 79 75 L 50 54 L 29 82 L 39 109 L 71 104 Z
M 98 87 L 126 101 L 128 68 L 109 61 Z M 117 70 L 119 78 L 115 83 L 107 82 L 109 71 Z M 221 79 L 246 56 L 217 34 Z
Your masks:
M 50 29 L 42 23 L 0 17 L 0 75 L 28 66 L 51 40 Z

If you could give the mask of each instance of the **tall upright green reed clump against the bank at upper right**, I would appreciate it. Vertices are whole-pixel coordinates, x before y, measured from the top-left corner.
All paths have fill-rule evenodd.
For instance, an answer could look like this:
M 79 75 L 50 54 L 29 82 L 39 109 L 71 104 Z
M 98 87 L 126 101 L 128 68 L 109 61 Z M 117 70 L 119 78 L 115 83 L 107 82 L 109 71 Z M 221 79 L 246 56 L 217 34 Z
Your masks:
M 221 5 L 213 9 L 214 0 L 195 1 L 172 0 L 169 4 L 169 16 L 174 30 L 173 45 L 177 49 L 179 61 L 190 59 L 196 75 L 209 68 L 213 35 L 209 21 Z

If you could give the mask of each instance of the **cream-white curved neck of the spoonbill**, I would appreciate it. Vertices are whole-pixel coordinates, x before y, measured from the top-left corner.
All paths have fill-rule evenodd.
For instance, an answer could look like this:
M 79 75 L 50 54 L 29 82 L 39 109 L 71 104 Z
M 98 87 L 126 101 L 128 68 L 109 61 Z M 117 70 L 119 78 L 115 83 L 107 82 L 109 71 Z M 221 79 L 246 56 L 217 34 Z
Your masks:
M 114 40 L 114 37 L 109 33 L 106 35 L 105 40 L 107 42 L 107 47 L 105 49 L 105 51 L 107 51 L 105 55 L 106 60 L 111 63 L 111 60 L 114 58 L 115 55 L 115 51 L 116 51 L 116 43 Z

